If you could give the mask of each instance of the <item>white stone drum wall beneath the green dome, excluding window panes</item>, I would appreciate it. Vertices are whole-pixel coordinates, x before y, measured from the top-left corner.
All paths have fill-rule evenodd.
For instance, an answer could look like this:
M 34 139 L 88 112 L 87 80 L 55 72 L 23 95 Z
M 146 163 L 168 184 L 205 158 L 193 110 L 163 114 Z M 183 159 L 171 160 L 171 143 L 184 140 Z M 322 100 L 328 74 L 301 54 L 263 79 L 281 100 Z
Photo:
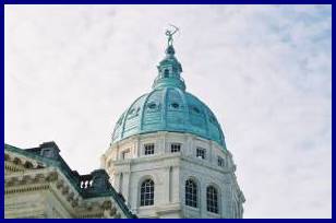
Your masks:
M 154 154 L 145 155 L 146 144 L 154 144 Z M 171 144 L 180 144 L 180 152 L 171 152 Z M 204 159 L 196 156 L 197 149 L 205 150 Z M 214 141 L 167 131 L 137 134 L 111 144 L 101 164 L 140 218 L 242 218 L 244 197 L 232 155 Z M 154 204 L 142 207 L 140 187 L 148 178 L 155 185 Z M 185 206 L 188 179 L 197 184 L 196 208 Z M 218 213 L 207 211 L 208 186 L 218 190 Z

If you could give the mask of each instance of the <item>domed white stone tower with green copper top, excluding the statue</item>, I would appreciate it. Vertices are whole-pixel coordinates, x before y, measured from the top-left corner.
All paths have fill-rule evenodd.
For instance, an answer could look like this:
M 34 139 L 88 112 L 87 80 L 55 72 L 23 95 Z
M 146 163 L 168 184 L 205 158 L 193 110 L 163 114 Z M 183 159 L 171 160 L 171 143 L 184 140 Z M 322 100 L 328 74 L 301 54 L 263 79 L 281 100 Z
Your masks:
M 240 219 L 244 197 L 220 124 L 187 92 L 172 42 L 165 52 L 152 91 L 118 119 L 101 167 L 140 218 Z

